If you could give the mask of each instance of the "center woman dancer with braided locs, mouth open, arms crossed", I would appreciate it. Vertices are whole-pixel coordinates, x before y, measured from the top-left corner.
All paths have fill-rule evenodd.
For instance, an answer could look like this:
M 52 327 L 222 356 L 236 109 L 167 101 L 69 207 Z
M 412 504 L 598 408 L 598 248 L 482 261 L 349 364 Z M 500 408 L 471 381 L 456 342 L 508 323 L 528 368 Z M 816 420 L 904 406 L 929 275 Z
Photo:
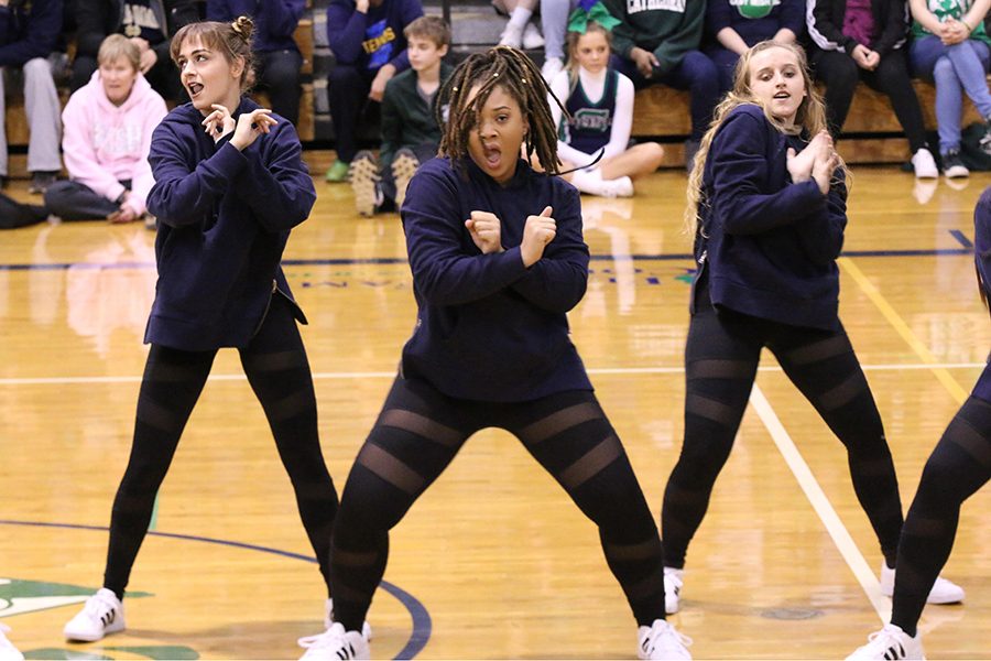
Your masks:
M 526 55 L 469 56 L 442 88 L 440 156 L 406 193 L 403 229 L 418 307 L 400 373 L 358 453 L 334 527 L 336 622 L 304 659 L 368 659 L 360 632 L 389 530 L 475 432 L 494 426 L 599 527 L 639 625 L 641 659 L 689 659 L 664 619 L 661 538 L 616 430 L 568 338 L 585 295 L 578 191 L 557 172 L 547 86 Z M 520 159 L 536 153 L 549 174 Z

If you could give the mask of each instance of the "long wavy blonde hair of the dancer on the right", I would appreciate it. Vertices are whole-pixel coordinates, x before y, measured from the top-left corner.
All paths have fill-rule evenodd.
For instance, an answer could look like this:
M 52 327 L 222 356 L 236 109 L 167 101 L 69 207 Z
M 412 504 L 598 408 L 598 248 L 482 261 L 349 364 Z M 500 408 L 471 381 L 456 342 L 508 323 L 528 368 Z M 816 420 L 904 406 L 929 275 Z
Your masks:
M 753 59 L 754 55 L 758 53 L 763 53 L 771 48 L 784 48 L 785 51 L 789 51 L 798 61 L 798 68 L 802 72 L 802 80 L 805 85 L 806 95 L 805 98 L 802 99 L 802 104 L 798 105 L 793 128 L 785 127 L 780 119 L 773 117 L 761 100 L 754 96 L 753 90 L 750 87 L 750 61 Z M 782 133 L 804 133 L 808 138 L 812 138 L 819 131 L 826 129 L 826 105 L 823 102 L 821 95 L 819 95 L 818 90 L 813 86 L 812 76 L 808 73 L 808 61 L 805 56 L 805 50 L 797 44 L 784 44 L 774 41 L 762 41 L 748 48 L 745 53 L 740 55 L 740 59 L 737 61 L 737 67 L 733 72 L 732 89 L 727 93 L 722 101 L 720 101 L 712 111 L 712 121 L 709 123 L 709 128 L 701 139 L 698 152 L 695 154 L 691 175 L 688 177 L 688 205 L 685 207 L 685 231 L 689 236 L 694 237 L 696 231 L 698 231 L 699 205 L 708 204 L 707 201 L 703 199 L 703 175 L 705 174 L 706 158 L 708 158 L 709 149 L 712 147 L 712 139 L 716 137 L 719 127 L 722 126 L 723 120 L 730 111 L 744 104 L 760 106 L 761 109 L 763 109 L 764 117 L 767 118 L 767 121 Z M 849 181 L 850 173 L 842 160 L 840 160 L 839 169 Z

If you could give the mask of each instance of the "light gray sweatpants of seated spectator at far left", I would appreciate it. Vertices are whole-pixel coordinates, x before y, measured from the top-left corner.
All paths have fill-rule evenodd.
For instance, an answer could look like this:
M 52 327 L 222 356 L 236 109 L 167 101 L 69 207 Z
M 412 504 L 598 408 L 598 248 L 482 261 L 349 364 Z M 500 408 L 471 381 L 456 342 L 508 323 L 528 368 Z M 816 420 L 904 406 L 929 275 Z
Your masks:
M 52 65 L 43 57 L 29 59 L 18 71 L 2 67 L 0 75 L 0 118 L 7 117 L 4 84 L 24 85 L 24 110 L 28 113 L 28 170 L 30 172 L 58 172 L 62 158 L 58 144 L 62 141 L 62 104 L 52 78 Z M 0 175 L 7 176 L 7 129 L 0 121 Z

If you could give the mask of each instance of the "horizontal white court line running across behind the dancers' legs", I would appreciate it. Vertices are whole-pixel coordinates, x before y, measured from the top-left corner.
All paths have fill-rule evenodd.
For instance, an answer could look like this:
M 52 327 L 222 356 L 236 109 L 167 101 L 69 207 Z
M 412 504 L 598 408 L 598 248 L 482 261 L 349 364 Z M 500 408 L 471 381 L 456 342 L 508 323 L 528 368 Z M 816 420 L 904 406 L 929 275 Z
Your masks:
M 983 369 L 984 362 L 940 362 L 940 364 L 891 364 L 891 365 L 861 365 L 864 371 L 897 371 L 918 369 Z M 684 367 L 600 367 L 587 370 L 589 375 L 677 375 L 685 371 Z M 781 366 L 769 365 L 758 368 L 758 371 L 782 371 Z M 324 379 L 392 379 L 393 371 L 367 371 L 367 372 L 313 372 L 315 380 Z M 244 375 L 210 375 L 209 381 L 243 381 Z M 73 386 L 87 383 L 140 383 L 140 376 L 131 377 L 11 377 L 0 379 L 0 386 Z

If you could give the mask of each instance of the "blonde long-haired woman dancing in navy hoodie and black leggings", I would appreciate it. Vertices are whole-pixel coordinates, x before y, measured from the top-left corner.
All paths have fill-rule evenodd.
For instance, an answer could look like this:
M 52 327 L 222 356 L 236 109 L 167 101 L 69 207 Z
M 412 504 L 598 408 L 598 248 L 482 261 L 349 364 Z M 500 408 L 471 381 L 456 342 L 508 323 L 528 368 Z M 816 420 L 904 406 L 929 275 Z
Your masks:
M 804 51 L 765 41 L 743 53 L 688 180 L 685 217 L 698 271 L 685 347 L 685 436 L 661 513 L 668 614 L 679 609 L 688 543 L 729 458 L 764 347 L 846 447 L 884 555 L 881 589 L 892 592 L 897 478 L 838 315 L 845 180 Z M 962 598 L 941 578 L 929 595 Z

